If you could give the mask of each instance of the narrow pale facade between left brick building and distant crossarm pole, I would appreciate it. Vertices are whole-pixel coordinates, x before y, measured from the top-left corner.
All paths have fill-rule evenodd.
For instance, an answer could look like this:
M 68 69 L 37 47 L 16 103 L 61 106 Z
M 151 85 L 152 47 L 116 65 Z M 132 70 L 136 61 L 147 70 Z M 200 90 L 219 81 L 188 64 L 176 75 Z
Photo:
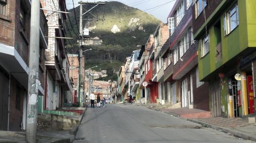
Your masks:
M 58 13 L 55 11 L 66 12 L 66 1 L 50 1 L 47 2 L 45 8 L 48 20 L 48 49 L 46 50 L 46 90 L 44 98 L 44 109 L 55 110 L 62 107 L 68 102 L 67 96 L 71 96 L 71 84 L 69 79 L 69 61 L 65 53 L 65 43 L 61 37 L 65 37 L 67 25 L 66 13 Z M 60 37 L 60 38 L 56 38 Z M 70 90 L 71 89 L 71 90 Z

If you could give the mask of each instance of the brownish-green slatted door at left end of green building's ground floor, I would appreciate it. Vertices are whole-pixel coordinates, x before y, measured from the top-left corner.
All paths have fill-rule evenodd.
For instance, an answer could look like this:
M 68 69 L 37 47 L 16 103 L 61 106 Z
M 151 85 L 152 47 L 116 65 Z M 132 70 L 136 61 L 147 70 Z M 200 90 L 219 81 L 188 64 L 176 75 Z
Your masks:
M 215 81 L 210 84 L 211 93 L 211 116 L 221 116 L 221 91 L 219 87 L 220 82 Z

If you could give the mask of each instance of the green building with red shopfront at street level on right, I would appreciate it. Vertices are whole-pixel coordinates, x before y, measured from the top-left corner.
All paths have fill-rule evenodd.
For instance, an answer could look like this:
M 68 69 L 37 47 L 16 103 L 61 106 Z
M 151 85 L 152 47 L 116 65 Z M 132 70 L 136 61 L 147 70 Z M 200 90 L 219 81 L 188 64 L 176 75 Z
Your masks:
M 200 80 L 210 85 L 211 116 L 233 118 L 253 113 L 256 1 L 197 0 L 193 30 Z

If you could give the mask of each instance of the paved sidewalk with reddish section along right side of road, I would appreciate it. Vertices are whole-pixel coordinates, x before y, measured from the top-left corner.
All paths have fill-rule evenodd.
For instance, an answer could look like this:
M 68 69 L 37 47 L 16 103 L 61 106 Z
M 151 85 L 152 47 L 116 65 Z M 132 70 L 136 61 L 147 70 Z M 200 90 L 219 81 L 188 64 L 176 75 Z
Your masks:
M 256 124 L 247 123 L 242 118 L 203 118 L 209 111 L 188 108 L 172 109 L 169 105 L 147 105 L 147 108 L 168 113 L 169 115 L 200 124 L 202 127 L 209 127 L 230 135 L 234 135 L 246 140 L 256 141 Z M 193 117 L 195 114 L 195 117 Z M 203 116 L 198 116 L 203 115 Z

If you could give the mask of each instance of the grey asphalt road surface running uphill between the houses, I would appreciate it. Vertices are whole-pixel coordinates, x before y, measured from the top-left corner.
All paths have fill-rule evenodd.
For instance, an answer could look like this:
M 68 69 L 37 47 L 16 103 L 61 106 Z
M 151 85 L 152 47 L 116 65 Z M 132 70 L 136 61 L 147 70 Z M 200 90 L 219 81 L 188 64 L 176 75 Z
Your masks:
M 106 104 L 90 106 L 82 119 L 74 142 L 253 142 L 201 127 L 143 106 Z

